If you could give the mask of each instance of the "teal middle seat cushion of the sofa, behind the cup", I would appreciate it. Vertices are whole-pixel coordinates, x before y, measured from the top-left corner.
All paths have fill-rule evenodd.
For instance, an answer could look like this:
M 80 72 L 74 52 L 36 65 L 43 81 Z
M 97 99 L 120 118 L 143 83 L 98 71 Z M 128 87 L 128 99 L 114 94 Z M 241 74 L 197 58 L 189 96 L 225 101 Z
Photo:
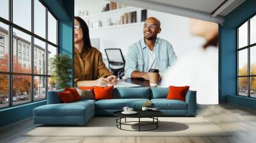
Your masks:
M 135 110 L 141 109 L 146 102 L 150 102 L 148 99 L 112 99 L 112 100 L 99 100 L 95 102 L 95 109 L 104 110 L 122 110 L 123 107 L 128 106 Z

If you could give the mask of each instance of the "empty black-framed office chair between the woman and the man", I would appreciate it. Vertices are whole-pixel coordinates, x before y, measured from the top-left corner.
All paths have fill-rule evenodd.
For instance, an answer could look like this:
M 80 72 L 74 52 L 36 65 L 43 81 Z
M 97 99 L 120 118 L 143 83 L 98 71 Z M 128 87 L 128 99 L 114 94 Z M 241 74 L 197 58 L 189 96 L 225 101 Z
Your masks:
M 121 49 L 105 49 L 108 58 L 108 67 L 113 74 L 122 79 L 124 76 L 125 59 Z

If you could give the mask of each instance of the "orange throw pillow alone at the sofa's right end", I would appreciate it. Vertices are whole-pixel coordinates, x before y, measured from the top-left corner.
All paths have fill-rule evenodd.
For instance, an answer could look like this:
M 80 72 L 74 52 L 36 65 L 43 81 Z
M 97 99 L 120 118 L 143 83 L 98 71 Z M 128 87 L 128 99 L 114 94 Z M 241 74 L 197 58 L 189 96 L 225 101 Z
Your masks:
M 170 86 L 169 93 L 167 95 L 168 100 L 182 100 L 185 102 L 186 94 L 188 92 L 189 86 Z

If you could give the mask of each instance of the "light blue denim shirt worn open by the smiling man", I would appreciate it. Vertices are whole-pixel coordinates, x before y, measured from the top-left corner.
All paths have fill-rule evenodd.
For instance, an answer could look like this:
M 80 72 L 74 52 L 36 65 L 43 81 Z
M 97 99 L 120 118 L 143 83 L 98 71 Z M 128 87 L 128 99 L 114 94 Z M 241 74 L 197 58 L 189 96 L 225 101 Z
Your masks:
M 157 66 L 160 73 L 163 73 L 169 66 L 172 66 L 177 56 L 172 45 L 161 38 L 157 38 L 154 45 L 156 50 Z M 148 72 L 148 50 L 144 38 L 129 47 L 126 63 L 125 77 L 131 78 L 131 73 L 135 70 L 139 72 Z

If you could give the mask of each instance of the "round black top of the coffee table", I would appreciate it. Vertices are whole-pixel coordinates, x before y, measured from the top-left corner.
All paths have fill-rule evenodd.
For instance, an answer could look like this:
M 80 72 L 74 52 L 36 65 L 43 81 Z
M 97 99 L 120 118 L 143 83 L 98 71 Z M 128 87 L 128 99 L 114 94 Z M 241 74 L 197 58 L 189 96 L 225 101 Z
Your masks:
M 137 114 L 122 114 L 123 110 L 114 112 L 116 117 L 159 117 L 163 116 L 163 112 L 159 110 L 136 110 Z

